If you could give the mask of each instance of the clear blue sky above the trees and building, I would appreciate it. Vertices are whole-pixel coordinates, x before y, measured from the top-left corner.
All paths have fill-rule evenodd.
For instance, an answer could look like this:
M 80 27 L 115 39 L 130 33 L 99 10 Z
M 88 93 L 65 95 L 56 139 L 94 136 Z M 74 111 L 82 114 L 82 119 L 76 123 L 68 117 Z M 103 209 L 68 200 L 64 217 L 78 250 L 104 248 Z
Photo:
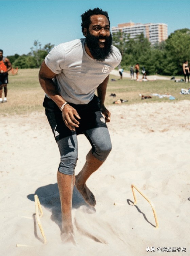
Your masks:
M 190 29 L 189 0 L 1 0 L 0 49 L 4 56 L 22 55 L 30 52 L 34 40 L 43 47 L 82 38 L 80 15 L 94 7 L 108 12 L 111 26 L 165 23 L 168 35 Z

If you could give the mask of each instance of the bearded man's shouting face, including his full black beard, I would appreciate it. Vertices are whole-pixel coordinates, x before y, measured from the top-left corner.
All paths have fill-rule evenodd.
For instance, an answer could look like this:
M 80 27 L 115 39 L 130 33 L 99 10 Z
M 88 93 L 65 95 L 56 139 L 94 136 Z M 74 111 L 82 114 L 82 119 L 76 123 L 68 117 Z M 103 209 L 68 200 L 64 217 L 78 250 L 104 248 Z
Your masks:
M 109 21 L 104 15 L 91 16 L 89 29 L 84 31 L 87 46 L 92 56 L 97 60 L 104 60 L 112 52 L 112 36 Z

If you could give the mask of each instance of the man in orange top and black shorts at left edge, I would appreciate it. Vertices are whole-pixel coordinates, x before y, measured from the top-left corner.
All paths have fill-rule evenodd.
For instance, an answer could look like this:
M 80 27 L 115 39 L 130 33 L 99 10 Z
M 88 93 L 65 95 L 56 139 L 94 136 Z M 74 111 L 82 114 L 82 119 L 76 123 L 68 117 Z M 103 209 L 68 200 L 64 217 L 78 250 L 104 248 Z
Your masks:
M 8 71 L 11 69 L 11 62 L 3 57 L 3 50 L 0 50 L 0 103 L 7 102 Z M 2 99 L 3 88 L 4 99 Z

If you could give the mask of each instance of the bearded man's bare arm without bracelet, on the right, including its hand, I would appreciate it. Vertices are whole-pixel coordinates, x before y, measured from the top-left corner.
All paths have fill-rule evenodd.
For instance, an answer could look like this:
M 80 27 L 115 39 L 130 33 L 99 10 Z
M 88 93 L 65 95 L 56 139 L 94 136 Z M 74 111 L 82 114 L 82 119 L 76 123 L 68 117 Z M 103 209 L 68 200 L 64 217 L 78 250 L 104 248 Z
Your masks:
M 111 117 L 111 113 L 104 106 L 108 81 L 109 81 L 109 75 L 106 77 L 106 79 L 104 79 L 104 81 L 97 88 L 98 98 L 100 99 L 101 111 L 102 111 L 102 114 L 104 114 L 105 116 L 106 122 L 110 122 L 110 117 Z

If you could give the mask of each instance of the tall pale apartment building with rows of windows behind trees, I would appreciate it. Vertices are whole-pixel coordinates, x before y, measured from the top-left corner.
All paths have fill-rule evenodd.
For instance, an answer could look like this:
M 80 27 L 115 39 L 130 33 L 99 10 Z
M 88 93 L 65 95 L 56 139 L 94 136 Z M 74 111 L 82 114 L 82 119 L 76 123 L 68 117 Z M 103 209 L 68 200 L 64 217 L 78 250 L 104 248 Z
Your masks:
M 122 23 L 117 27 L 112 27 L 112 34 L 116 32 L 123 32 L 127 36 L 130 34 L 130 38 L 135 38 L 141 33 L 149 39 L 151 44 L 160 43 L 168 38 L 168 25 L 164 23 Z

